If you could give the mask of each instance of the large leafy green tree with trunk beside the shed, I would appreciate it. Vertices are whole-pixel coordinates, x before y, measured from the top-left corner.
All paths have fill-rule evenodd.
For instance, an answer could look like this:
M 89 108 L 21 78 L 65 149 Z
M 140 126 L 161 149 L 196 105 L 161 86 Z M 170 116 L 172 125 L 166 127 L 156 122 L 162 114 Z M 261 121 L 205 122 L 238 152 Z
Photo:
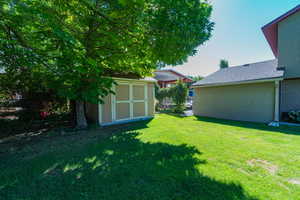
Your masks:
M 78 127 L 87 126 L 83 102 L 112 92 L 111 77 L 181 64 L 213 28 L 205 0 L 0 2 L 1 64 L 76 100 Z

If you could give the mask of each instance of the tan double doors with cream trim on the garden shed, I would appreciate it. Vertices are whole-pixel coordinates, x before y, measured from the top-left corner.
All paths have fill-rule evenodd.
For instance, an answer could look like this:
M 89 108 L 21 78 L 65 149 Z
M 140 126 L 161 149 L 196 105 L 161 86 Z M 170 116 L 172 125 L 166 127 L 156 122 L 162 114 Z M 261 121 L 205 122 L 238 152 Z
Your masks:
M 113 120 L 122 121 L 148 115 L 147 84 L 119 83 L 113 99 Z

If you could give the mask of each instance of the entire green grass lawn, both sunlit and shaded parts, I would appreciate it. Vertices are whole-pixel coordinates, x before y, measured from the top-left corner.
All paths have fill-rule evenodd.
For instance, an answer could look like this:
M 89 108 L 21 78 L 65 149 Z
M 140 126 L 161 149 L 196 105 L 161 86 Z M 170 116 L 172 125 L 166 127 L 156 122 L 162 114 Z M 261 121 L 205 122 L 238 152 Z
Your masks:
M 0 157 L 0 199 L 300 199 L 299 128 L 167 114 L 129 127 Z

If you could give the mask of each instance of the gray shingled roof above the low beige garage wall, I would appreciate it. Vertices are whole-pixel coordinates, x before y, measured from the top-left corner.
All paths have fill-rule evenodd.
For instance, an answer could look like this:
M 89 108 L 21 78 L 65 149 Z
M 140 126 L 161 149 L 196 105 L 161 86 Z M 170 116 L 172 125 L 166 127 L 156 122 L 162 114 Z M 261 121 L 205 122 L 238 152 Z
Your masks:
M 229 67 L 207 76 L 196 82 L 193 86 L 209 86 L 236 84 L 249 81 L 268 80 L 282 78 L 284 69 L 279 69 L 277 60 L 246 64 L 242 66 Z

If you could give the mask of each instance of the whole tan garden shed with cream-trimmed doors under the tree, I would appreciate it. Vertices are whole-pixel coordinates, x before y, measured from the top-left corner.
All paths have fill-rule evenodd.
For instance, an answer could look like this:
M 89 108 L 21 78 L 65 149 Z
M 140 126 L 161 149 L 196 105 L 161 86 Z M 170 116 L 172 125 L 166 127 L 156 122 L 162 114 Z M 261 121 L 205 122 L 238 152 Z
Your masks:
M 114 94 L 104 103 L 86 103 L 86 116 L 101 126 L 150 119 L 154 116 L 156 80 L 153 78 L 114 78 Z

